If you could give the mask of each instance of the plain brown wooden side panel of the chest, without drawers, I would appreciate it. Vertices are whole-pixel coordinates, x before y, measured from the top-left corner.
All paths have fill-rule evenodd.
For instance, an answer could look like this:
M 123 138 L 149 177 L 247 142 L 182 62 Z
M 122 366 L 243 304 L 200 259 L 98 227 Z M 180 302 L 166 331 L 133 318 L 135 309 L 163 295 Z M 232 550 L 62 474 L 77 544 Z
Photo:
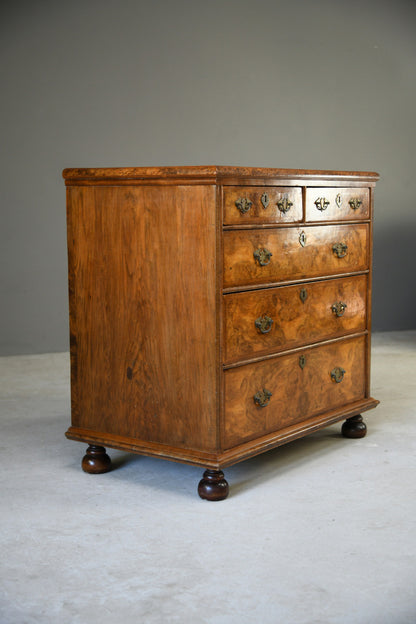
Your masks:
M 217 445 L 214 186 L 72 187 L 72 425 Z

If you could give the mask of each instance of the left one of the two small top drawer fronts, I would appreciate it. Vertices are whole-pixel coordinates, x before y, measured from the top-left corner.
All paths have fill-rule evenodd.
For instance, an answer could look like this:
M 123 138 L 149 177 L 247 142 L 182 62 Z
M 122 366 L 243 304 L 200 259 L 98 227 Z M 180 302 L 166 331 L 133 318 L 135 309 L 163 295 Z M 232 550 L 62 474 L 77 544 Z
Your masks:
M 299 187 L 224 187 L 224 225 L 293 223 L 302 220 Z

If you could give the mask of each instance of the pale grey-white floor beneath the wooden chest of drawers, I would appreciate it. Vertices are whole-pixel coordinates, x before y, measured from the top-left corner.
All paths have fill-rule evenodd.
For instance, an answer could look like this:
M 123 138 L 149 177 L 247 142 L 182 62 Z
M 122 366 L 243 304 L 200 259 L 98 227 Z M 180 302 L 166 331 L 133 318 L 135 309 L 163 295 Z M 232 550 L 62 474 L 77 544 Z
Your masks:
M 87 475 L 68 355 L 0 360 L 1 624 L 414 624 L 416 332 L 376 334 L 369 432 L 229 468 L 110 451 Z

